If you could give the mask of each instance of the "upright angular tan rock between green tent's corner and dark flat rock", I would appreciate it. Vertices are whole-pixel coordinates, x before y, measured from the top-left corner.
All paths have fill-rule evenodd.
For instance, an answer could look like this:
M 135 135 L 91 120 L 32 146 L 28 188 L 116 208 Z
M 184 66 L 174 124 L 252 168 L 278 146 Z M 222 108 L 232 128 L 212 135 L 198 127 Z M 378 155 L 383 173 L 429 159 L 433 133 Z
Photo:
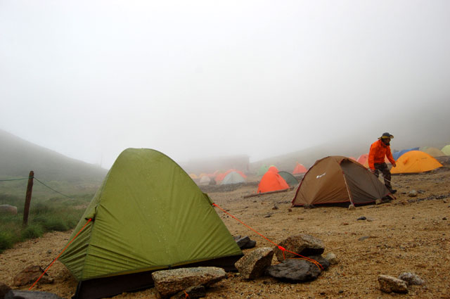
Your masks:
M 253 250 L 234 264 L 243 279 L 255 279 L 263 276 L 274 257 L 274 248 L 262 247 Z

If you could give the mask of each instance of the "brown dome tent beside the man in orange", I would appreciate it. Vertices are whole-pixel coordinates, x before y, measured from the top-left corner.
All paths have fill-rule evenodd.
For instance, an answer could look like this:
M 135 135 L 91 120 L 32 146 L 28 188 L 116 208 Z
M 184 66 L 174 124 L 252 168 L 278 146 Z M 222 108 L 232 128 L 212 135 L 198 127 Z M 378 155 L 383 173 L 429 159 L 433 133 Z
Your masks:
M 350 158 L 332 155 L 317 160 L 304 175 L 293 206 L 362 205 L 388 194 L 385 185 L 363 165 Z

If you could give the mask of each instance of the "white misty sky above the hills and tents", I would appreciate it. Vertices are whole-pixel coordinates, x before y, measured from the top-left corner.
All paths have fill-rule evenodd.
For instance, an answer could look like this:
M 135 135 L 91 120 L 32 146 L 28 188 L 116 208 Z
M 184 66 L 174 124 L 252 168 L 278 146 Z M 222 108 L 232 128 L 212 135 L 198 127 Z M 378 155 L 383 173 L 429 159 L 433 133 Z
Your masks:
M 449 124 L 449 15 L 448 0 L 0 0 L 0 129 L 103 167 L 129 147 L 258 160 L 406 138 L 400 120 Z

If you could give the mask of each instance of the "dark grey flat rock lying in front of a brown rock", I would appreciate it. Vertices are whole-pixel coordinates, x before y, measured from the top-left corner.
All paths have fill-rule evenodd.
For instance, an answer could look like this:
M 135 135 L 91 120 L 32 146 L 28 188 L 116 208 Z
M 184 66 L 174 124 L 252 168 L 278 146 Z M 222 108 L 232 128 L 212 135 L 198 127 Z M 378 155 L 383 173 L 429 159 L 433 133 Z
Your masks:
M 321 269 L 307 260 L 284 260 L 267 268 L 266 274 L 288 282 L 311 281 L 321 274 Z

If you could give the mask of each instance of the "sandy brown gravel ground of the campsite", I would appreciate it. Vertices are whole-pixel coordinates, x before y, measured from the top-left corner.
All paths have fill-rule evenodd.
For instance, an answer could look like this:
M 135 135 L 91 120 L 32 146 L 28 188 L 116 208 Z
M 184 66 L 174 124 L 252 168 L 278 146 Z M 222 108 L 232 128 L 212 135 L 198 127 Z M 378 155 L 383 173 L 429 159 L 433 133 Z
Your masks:
M 450 169 L 445 166 L 426 174 L 393 177 L 399 189 L 394 201 L 356 210 L 290 208 L 295 189 L 251 198 L 243 196 L 254 193 L 257 186 L 210 192 L 221 208 L 266 238 L 279 242 L 288 236 L 311 234 L 321 238 L 325 253 L 335 253 L 340 262 L 315 281 L 304 284 L 288 284 L 268 276 L 245 281 L 231 273 L 228 279 L 209 288 L 206 298 L 450 298 Z M 411 198 L 407 194 L 411 189 L 423 193 Z M 275 205 L 278 209 L 274 209 Z M 250 236 L 257 241 L 257 247 L 272 246 L 243 224 L 217 212 L 234 236 Z M 368 220 L 356 220 L 361 216 Z M 70 233 L 49 233 L 5 250 L 0 254 L 0 282 L 11 286 L 13 276 L 27 265 L 49 265 Z M 363 236 L 368 238 L 359 241 Z M 426 284 L 411 286 L 406 295 L 379 290 L 378 274 L 398 276 L 401 272 L 418 274 Z M 49 269 L 49 275 L 55 279 L 54 284 L 34 289 L 63 298 L 75 293 L 77 282 L 60 262 Z M 123 293 L 114 298 L 155 298 L 155 290 Z

